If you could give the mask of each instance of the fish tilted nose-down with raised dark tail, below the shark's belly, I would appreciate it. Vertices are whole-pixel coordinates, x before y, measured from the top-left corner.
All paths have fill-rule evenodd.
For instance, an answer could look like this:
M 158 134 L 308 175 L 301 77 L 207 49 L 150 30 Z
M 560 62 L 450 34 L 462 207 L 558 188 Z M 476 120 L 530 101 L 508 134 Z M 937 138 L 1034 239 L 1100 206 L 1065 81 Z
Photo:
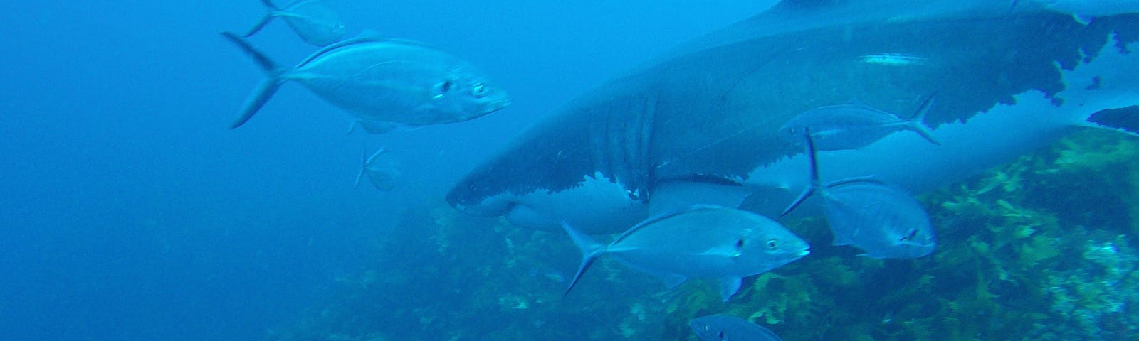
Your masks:
M 806 132 L 811 184 L 781 216 L 813 194 L 822 198 L 822 210 L 834 233 L 835 246 L 854 246 L 870 258 L 909 259 L 924 257 L 936 248 L 929 215 L 904 191 L 869 177 L 845 178 L 821 184 L 817 150 Z

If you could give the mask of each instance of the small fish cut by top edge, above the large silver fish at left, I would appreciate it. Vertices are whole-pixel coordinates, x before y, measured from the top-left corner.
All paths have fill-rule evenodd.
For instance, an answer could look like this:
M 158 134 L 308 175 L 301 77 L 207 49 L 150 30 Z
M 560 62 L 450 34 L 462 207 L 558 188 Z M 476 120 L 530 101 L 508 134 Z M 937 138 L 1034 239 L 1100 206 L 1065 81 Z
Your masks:
M 271 0 L 261 0 L 269 9 L 245 36 L 252 36 L 269 25 L 273 18 L 281 18 L 293 28 L 293 32 L 304 42 L 325 47 L 344 38 L 346 28 L 336 14 L 325 1 L 296 0 L 284 7 L 277 7 Z

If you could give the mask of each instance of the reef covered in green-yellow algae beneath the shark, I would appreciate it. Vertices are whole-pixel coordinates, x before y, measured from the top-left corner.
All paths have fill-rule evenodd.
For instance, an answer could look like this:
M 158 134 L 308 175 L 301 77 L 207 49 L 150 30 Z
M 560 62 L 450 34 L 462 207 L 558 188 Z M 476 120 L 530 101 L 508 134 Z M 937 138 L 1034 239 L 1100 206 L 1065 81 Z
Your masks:
M 784 340 L 1139 340 L 1139 141 L 1085 132 L 919 199 L 937 250 L 877 260 L 786 222 L 812 255 L 747 278 L 666 290 L 601 260 L 563 297 L 579 255 L 560 233 L 410 210 L 372 269 L 269 340 L 696 340 L 728 314 Z

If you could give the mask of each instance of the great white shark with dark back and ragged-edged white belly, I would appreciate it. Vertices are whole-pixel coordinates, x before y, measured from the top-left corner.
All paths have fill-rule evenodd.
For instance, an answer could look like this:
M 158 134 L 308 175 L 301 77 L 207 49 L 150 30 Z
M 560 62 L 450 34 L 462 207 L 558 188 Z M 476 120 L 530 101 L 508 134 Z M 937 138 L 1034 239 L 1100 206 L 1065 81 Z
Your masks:
M 785 0 L 557 108 L 446 200 L 584 233 L 694 203 L 773 216 L 810 181 L 780 125 L 850 101 L 910 113 L 936 93 L 926 123 L 942 145 L 894 133 L 818 156 L 823 181 L 920 193 L 1080 128 L 1139 132 L 1137 49 L 1136 15 L 1084 25 L 1008 1 Z

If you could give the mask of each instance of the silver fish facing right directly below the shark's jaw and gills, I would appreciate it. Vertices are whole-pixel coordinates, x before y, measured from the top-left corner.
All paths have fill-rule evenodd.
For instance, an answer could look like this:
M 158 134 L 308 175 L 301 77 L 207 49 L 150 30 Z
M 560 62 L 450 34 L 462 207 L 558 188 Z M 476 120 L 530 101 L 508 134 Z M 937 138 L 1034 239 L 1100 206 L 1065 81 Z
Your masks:
M 805 241 L 775 221 L 746 210 L 700 205 L 652 217 L 634 225 L 608 246 L 563 223 L 581 248 L 581 267 L 566 288 L 573 290 L 598 257 L 613 255 L 633 268 L 661 277 L 673 288 L 689 277 L 720 280 L 727 301 L 743 277 L 757 275 L 810 253 Z

